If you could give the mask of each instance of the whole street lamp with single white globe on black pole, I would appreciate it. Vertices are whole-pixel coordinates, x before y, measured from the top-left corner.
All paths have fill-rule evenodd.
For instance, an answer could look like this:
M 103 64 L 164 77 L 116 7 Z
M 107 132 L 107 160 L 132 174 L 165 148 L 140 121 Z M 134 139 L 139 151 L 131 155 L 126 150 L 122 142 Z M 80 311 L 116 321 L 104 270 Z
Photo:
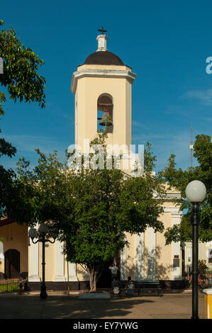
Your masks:
M 199 247 L 199 203 L 206 198 L 206 186 L 201 181 L 191 181 L 186 186 L 186 198 L 192 203 L 192 317 L 198 316 L 198 247 Z

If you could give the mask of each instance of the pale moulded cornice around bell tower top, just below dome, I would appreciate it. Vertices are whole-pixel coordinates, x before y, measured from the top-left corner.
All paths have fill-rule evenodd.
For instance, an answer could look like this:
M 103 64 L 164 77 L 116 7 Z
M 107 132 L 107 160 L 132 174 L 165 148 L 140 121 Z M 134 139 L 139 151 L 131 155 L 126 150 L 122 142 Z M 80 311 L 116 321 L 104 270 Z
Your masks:
M 127 79 L 131 84 L 135 80 L 136 74 L 130 71 L 122 71 L 115 69 L 81 69 L 74 72 L 72 75 L 72 93 L 75 94 L 77 89 L 77 80 L 82 79 L 82 77 L 114 77 Z

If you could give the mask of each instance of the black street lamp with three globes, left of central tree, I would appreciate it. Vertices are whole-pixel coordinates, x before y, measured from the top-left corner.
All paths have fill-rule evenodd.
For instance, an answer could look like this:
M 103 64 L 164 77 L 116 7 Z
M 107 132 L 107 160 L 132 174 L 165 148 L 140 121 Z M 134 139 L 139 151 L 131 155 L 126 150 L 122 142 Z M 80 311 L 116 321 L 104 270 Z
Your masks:
M 50 230 L 50 236 L 54 239 L 52 242 L 50 239 L 46 238 L 45 235 L 48 232 L 48 226 L 45 225 L 45 223 L 40 223 L 40 227 L 38 231 L 35 228 L 31 228 L 28 232 L 29 237 L 32 239 L 33 244 L 36 244 L 38 242 L 42 242 L 42 247 L 43 247 L 43 258 L 42 258 L 42 266 L 43 266 L 43 276 L 42 276 L 42 283 L 40 286 L 40 298 L 47 298 L 47 293 L 46 293 L 46 286 L 45 286 L 45 242 L 50 242 L 51 244 L 55 243 L 55 239 L 57 238 L 57 229 L 52 228 Z M 37 238 L 38 240 L 36 242 L 33 241 L 34 238 Z

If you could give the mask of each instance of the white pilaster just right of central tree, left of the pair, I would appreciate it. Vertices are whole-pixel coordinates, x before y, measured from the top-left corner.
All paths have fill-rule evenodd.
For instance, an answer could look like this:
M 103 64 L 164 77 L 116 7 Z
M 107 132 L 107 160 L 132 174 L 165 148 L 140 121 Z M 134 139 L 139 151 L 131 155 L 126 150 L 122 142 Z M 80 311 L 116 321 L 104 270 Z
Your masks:
M 144 278 L 145 244 L 144 233 L 135 235 L 135 276 L 134 280 Z

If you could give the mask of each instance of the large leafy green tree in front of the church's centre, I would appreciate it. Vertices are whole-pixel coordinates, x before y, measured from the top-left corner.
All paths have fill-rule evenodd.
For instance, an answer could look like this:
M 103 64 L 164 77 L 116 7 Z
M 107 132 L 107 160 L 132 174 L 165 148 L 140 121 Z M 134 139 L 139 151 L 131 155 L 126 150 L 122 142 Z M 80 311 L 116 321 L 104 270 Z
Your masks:
M 100 133 L 91 142 L 92 147 L 101 144 L 105 149 L 105 137 Z M 40 159 L 33 171 L 25 159 L 19 162 L 16 181 L 28 191 L 20 198 L 16 196 L 13 207 L 19 210 L 11 214 L 19 222 L 27 219 L 33 225 L 37 219 L 57 227 L 60 241 L 65 242 L 67 259 L 84 267 L 89 273 L 91 291 L 96 291 L 104 264 L 128 244 L 125 232 L 140 233 L 147 227 L 153 227 L 155 232 L 163 230 L 159 220 L 162 201 L 154 197 L 156 192 L 161 196 L 163 189 L 152 174 L 150 145 L 146 150 L 145 176 L 127 179 L 114 168 L 97 166 L 76 172 L 69 169 L 67 160 L 59 162 L 56 152 L 49 156 L 37 152 Z M 27 212 L 26 217 L 23 211 Z

